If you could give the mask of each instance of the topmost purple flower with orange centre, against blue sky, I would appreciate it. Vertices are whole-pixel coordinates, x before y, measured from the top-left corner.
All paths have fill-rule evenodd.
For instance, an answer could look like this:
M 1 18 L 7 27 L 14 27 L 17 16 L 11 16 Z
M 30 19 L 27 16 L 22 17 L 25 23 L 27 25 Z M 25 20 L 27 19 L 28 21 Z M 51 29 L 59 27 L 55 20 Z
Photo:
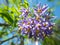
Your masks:
M 48 10 L 48 5 L 43 5 L 41 6 L 41 4 L 38 4 L 37 8 L 34 9 L 34 14 L 36 16 L 40 16 L 40 15 L 43 15 L 47 10 Z

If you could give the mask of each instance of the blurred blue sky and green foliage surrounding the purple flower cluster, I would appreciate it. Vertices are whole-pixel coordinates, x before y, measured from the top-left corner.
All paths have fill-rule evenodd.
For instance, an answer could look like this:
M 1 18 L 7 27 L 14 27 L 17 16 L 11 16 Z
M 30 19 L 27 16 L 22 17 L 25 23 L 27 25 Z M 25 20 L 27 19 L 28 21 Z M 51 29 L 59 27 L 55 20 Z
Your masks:
M 56 16 L 54 33 L 39 45 L 60 45 L 60 0 L 0 0 L 0 45 L 35 45 L 33 39 L 20 35 L 17 22 L 21 7 L 32 8 L 38 3 L 48 4 Z

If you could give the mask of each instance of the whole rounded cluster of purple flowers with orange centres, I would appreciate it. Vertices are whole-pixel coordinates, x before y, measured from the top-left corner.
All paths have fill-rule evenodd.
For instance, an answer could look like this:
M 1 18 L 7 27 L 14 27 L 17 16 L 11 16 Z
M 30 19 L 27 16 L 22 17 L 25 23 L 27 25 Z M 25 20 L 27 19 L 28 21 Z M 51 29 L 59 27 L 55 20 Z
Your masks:
M 33 9 L 33 12 L 30 9 L 23 8 L 21 10 L 22 14 L 20 17 L 24 19 L 19 20 L 18 27 L 22 35 L 28 35 L 29 38 L 44 38 L 52 34 L 52 28 L 54 23 L 51 22 L 51 16 L 48 12 L 48 5 L 41 4 L 37 5 L 37 8 Z M 31 14 L 33 13 L 33 14 Z M 34 15 L 29 17 L 28 15 Z M 29 18 L 28 18 L 29 17 Z

